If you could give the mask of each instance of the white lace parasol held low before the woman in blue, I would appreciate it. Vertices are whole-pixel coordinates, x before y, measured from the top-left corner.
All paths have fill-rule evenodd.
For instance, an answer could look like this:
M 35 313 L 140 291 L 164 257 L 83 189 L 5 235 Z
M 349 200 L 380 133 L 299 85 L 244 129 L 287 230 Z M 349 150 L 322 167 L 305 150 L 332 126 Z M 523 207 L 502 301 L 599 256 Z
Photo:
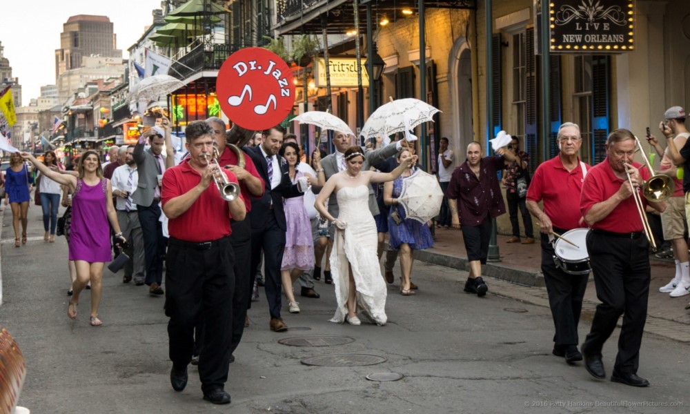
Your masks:
M 402 181 L 402 191 L 398 201 L 408 219 L 426 223 L 438 215 L 443 201 L 443 191 L 436 177 L 417 170 Z

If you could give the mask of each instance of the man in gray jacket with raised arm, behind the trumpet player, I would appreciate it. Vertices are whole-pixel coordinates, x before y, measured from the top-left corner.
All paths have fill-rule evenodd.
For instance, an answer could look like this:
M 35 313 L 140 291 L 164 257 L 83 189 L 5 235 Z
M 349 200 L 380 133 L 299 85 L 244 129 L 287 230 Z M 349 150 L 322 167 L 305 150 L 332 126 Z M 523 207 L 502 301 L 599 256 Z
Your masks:
M 150 144 L 144 150 L 146 142 Z M 167 157 L 163 147 L 166 146 Z M 163 237 L 161 218 L 161 180 L 166 168 L 175 166 L 175 149 L 170 139 L 170 123 L 164 118 L 160 127 L 152 127 L 141 134 L 134 147 L 134 160 L 137 163 L 139 182 L 132 194 L 137 204 L 137 214 L 141 231 L 144 234 L 144 257 L 146 258 L 146 280 L 151 296 L 164 294 L 163 259 L 166 254 L 166 239 Z

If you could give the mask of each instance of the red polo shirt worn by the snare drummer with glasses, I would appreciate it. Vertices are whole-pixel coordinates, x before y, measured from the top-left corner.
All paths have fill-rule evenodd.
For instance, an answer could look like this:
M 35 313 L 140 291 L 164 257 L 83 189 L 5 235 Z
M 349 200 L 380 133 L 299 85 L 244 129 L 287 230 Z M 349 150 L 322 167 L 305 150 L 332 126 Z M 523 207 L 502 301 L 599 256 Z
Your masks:
M 584 165 L 587 170 L 591 166 Z M 580 193 L 582 193 L 582 166 L 578 157 L 578 166 L 568 171 L 563 166 L 560 155 L 544 161 L 532 176 L 527 190 L 527 199 L 539 202 L 544 200 L 544 214 L 549 216 L 554 227 L 564 230 L 586 227 L 580 222 Z

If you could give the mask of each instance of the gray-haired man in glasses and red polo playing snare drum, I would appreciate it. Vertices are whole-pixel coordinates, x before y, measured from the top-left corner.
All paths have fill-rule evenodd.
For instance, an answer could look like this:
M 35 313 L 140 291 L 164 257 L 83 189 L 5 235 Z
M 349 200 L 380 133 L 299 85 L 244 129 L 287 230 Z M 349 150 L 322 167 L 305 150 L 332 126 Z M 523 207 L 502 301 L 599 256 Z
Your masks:
M 558 155 L 542 163 L 534 172 L 527 191 L 527 209 L 539 221 L 542 232 L 542 273 L 555 326 L 553 355 L 565 357 L 567 363 L 582 361 L 578 351 L 578 322 L 587 275 L 570 275 L 555 265 L 553 233 L 563 235 L 569 230 L 585 227 L 580 214 L 580 193 L 586 170 L 591 166 L 580 161 L 582 146 L 580 127 L 566 122 L 558 128 Z M 544 210 L 537 204 L 544 201 Z M 586 230 L 583 230 L 586 234 Z M 566 237 L 570 242 L 571 238 Z M 585 249 L 584 237 L 578 239 Z

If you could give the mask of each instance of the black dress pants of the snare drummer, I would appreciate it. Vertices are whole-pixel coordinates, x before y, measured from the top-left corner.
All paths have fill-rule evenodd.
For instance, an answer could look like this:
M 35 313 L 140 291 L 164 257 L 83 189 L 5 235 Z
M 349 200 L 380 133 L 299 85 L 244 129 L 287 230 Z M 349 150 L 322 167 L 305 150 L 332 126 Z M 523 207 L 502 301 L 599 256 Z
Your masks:
M 553 228 L 558 234 L 566 233 L 562 228 Z M 569 275 L 553 262 L 553 245 L 549 237 L 542 235 L 542 273 L 546 292 L 549 293 L 549 306 L 555 326 L 553 342 L 556 348 L 577 345 L 578 323 L 582 313 L 582 298 L 587 288 L 589 275 Z

